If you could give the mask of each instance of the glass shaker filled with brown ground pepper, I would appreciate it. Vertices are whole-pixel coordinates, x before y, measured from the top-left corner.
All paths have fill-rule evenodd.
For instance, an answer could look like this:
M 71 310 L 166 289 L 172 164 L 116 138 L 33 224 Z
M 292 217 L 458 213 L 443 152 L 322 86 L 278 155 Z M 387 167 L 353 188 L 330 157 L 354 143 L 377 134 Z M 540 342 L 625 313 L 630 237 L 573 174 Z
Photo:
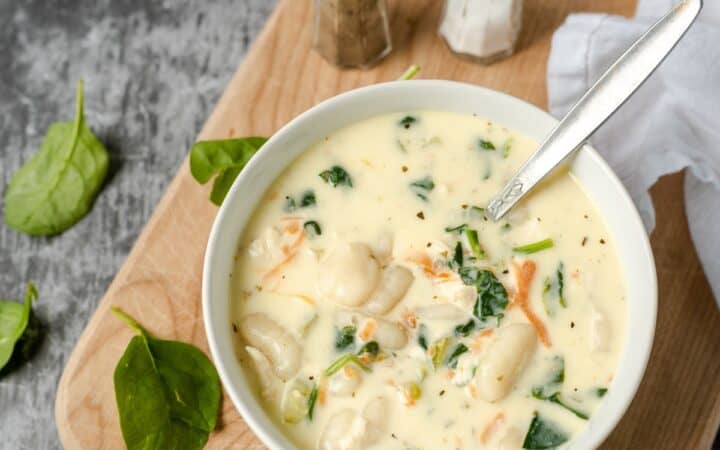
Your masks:
M 313 47 L 343 68 L 367 68 L 392 50 L 385 0 L 314 0 Z

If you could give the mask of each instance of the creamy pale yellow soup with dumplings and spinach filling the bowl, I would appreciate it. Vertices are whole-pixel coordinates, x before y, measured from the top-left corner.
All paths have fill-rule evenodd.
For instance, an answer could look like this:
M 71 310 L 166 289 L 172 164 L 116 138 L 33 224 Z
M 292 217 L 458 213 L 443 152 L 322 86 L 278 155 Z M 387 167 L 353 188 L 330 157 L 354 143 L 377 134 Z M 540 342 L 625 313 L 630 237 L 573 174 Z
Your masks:
M 506 220 L 493 223 L 477 208 L 535 147 L 475 116 L 391 114 L 327 136 L 268 190 L 238 250 L 232 322 L 258 398 L 298 448 L 512 449 L 532 441 L 531 422 L 567 438 L 587 425 L 559 403 L 591 416 L 611 388 L 626 327 L 612 236 L 567 172 Z M 349 183 L 337 170 L 339 179 L 319 176 L 335 166 Z M 462 224 L 481 249 L 467 231 L 446 231 Z M 513 250 L 545 239 L 552 247 Z M 468 285 L 458 261 L 448 263 L 458 241 L 462 265 L 498 282 L 490 293 L 480 287 L 492 317 L 474 315 L 472 271 Z M 519 277 L 533 265 L 523 308 Z M 350 325 L 342 343 L 353 343 L 338 349 Z M 367 341 L 382 344 L 379 356 L 361 355 L 368 372 L 349 362 L 324 375 Z M 467 351 L 449 367 L 461 344 Z M 564 379 L 552 383 L 558 357 Z

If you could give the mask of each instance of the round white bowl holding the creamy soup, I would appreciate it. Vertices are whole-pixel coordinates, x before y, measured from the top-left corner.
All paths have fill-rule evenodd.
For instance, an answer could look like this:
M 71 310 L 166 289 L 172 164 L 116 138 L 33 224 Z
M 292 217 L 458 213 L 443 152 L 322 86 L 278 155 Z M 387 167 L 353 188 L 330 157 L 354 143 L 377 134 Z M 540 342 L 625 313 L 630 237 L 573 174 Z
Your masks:
M 476 113 L 540 141 L 557 121 L 540 109 L 496 91 L 450 81 L 396 81 L 356 89 L 326 100 L 279 130 L 245 167 L 213 224 L 203 271 L 203 314 L 210 352 L 225 389 L 245 422 L 271 449 L 293 444 L 264 412 L 249 388 L 233 348 L 230 275 L 245 225 L 265 190 L 293 160 L 325 135 L 360 120 L 391 112 L 439 110 Z M 599 446 L 637 391 L 655 330 L 655 264 L 640 216 L 618 178 L 586 146 L 571 171 L 595 203 L 617 243 L 626 277 L 628 329 L 617 373 L 601 407 L 568 448 Z

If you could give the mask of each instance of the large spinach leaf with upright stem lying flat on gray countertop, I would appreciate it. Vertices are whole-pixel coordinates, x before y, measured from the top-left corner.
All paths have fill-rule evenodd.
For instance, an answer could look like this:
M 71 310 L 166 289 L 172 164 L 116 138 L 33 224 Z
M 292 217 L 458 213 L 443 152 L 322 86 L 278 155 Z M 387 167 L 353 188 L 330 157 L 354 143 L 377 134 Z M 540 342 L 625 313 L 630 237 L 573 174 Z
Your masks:
M 103 144 L 85 125 L 82 82 L 75 120 L 56 122 L 5 192 L 5 223 L 17 231 L 61 233 L 88 213 L 108 169 Z

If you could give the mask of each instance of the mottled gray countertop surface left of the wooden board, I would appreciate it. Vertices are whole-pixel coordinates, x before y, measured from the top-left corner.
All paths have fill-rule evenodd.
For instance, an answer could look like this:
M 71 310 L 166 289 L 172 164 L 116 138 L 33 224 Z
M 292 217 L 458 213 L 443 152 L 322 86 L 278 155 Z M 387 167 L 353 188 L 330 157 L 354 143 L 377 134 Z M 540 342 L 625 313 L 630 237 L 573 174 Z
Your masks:
M 0 298 L 34 281 L 46 328 L 38 353 L 0 379 L 0 449 L 62 448 L 65 362 L 275 3 L 0 0 L 0 191 L 52 122 L 72 120 L 78 79 L 111 160 L 91 212 L 65 233 L 0 223 Z

